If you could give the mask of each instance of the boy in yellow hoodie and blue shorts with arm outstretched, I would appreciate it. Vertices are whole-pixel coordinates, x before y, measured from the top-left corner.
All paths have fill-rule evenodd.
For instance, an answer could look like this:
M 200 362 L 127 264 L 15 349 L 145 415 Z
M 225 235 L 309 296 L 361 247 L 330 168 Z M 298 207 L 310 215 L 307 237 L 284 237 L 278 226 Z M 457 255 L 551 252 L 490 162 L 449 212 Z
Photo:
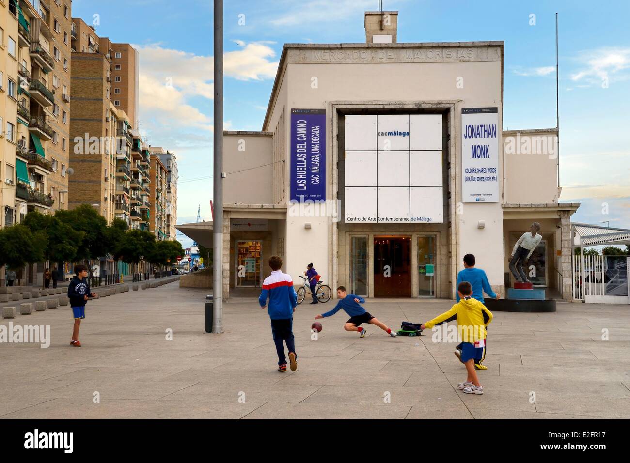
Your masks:
M 420 329 L 433 328 L 452 316 L 457 317 L 457 331 L 462 341 L 461 360 L 466 365 L 468 374 L 466 381 L 457 384 L 457 387 L 466 394 L 483 394 L 483 386 L 479 384 L 477 372 L 474 369 L 474 359 L 481 358 L 486 339 L 486 324 L 492 321 L 492 312 L 479 300 L 474 299 L 473 287 L 469 282 L 461 282 L 457 286 L 459 302 L 450 307 L 450 311 L 438 315 L 433 320 L 420 326 Z M 488 315 L 488 323 L 484 322 L 483 312 Z

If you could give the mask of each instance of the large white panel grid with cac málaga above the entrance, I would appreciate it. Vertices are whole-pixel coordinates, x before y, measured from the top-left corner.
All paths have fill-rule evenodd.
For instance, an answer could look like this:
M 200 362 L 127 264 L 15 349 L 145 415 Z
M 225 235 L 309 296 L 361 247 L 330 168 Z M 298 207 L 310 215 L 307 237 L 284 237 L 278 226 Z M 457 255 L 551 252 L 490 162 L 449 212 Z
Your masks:
M 346 222 L 444 221 L 441 115 L 346 116 L 345 130 Z

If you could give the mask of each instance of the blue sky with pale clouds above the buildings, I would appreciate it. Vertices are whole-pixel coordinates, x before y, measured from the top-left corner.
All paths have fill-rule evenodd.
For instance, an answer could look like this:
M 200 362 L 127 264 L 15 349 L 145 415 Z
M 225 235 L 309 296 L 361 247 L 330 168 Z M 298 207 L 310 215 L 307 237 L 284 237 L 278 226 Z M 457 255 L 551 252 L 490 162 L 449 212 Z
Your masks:
M 284 43 L 365 42 L 364 11 L 378 4 L 225 1 L 224 129 L 261 130 Z M 398 42 L 505 42 L 504 130 L 556 126 L 558 12 L 560 200 L 581 203 L 574 222 L 630 229 L 630 2 L 384 0 L 384 9 L 399 11 Z M 198 207 L 211 220 L 212 1 L 74 0 L 72 16 L 139 50 L 139 129 L 176 154 L 177 222 L 195 222 Z

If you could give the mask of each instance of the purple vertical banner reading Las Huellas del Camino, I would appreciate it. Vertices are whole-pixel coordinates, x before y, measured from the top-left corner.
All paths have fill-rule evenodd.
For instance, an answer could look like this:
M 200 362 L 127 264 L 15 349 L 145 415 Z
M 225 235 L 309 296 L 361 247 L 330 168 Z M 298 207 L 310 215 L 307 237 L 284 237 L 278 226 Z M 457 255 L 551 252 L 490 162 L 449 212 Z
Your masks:
M 291 110 L 290 200 L 326 200 L 326 110 Z

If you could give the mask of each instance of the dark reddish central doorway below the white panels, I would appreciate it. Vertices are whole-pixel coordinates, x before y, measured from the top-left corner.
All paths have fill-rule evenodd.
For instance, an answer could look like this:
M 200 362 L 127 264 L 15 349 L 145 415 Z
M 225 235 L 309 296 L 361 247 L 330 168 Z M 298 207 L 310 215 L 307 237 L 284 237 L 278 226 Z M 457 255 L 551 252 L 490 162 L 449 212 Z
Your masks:
M 411 297 L 411 236 L 374 237 L 374 297 Z

